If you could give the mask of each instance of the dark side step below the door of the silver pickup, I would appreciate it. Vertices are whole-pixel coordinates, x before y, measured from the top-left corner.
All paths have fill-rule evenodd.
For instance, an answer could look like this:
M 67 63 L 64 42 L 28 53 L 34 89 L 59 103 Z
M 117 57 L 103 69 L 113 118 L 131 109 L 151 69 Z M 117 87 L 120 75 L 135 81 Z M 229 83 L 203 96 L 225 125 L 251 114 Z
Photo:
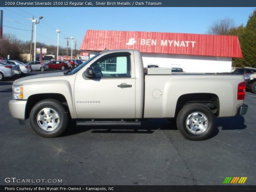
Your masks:
M 114 126 L 114 125 L 130 125 L 130 126 L 140 126 L 141 121 L 135 120 L 135 121 L 94 121 L 93 119 L 91 121 L 77 121 L 76 126 Z

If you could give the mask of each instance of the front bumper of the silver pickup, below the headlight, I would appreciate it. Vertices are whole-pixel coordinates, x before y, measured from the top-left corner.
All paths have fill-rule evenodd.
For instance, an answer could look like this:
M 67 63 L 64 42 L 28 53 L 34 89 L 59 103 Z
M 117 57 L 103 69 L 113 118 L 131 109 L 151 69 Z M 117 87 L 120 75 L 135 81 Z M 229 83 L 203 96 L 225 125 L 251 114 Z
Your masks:
M 10 100 L 9 110 L 12 117 L 19 120 L 25 120 L 26 104 L 27 100 Z

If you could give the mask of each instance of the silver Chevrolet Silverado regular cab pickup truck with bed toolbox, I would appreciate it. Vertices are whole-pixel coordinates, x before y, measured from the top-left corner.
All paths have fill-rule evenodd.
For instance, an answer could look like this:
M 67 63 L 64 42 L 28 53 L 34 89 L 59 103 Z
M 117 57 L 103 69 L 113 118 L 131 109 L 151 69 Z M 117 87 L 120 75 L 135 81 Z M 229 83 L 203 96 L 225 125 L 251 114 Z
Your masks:
M 59 136 L 71 119 L 77 126 L 135 126 L 168 118 L 186 139 L 205 140 L 215 116 L 244 115 L 248 108 L 242 75 L 144 69 L 138 50 L 100 52 L 72 71 L 28 76 L 12 86 L 12 116 L 29 118 L 43 137 Z

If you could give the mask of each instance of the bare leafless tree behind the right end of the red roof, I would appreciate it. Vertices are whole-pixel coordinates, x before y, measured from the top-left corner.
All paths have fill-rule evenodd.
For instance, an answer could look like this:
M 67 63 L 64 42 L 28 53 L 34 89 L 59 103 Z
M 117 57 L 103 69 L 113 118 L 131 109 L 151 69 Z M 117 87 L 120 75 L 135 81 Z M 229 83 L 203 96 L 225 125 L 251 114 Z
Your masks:
M 225 19 L 216 20 L 208 28 L 207 34 L 210 35 L 228 35 L 228 32 L 231 28 L 234 28 L 234 20 L 227 17 Z

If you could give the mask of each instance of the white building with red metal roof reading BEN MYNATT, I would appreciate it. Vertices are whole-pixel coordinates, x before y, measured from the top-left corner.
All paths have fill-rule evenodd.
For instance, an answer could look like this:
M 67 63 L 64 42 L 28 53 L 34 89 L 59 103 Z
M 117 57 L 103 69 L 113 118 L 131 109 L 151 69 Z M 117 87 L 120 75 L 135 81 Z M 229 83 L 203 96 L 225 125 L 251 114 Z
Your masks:
M 80 46 L 85 58 L 106 49 L 137 49 L 144 67 L 179 67 L 186 72 L 230 72 L 232 58 L 243 58 L 237 36 L 86 31 Z

